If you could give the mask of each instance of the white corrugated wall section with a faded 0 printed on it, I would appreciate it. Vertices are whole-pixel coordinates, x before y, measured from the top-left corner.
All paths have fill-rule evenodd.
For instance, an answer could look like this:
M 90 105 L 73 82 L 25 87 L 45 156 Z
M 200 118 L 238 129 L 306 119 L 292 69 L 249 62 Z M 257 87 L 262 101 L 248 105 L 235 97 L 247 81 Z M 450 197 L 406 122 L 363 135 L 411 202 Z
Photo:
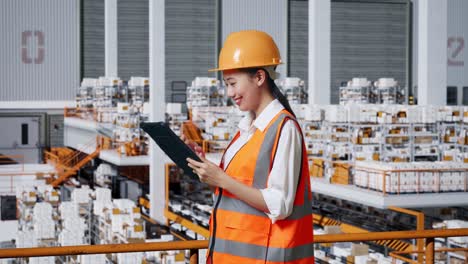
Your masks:
M 74 100 L 80 82 L 79 2 L 0 1 L 0 104 Z

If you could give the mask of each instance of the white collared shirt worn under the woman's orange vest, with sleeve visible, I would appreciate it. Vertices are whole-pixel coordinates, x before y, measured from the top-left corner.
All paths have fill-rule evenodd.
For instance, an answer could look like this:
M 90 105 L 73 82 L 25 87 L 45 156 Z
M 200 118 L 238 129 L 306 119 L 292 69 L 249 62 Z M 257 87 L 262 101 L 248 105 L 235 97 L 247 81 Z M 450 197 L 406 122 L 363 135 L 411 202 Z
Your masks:
M 273 100 L 255 120 L 252 120 L 252 114 L 247 114 L 241 119 L 238 125 L 239 138 L 232 143 L 224 155 L 225 167 L 242 146 L 250 140 L 255 131 L 257 129 L 265 130 L 270 121 L 283 109 L 283 105 L 278 100 Z M 301 154 L 300 131 L 293 121 L 288 120 L 281 131 L 267 188 L 260 190 L 270 211 L 267 215 L 272 223 L 284 219 L 292 213 L 302 163 Z

